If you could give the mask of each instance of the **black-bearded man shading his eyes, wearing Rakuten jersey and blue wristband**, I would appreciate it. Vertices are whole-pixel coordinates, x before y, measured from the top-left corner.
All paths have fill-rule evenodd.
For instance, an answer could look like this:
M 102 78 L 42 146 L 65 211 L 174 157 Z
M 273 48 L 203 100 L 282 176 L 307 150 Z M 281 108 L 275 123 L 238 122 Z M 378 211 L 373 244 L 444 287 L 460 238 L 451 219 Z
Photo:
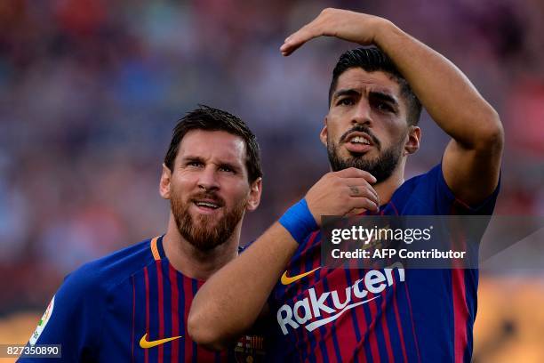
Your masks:
M 320 133 L 332 172 L 206 282 L 189 334 L 219 349 L 269 311 L 273 361 L 469 362 L 476 269 L 334 269 L 318 227 L 321 215 L 492 214 L 500 117 L 451 61 L 389 20 L 325 9 L 280 52 L 318 36 L 364 45 L 332 71 Z M 421 106 L 452 139 L 439 164 L 405 181 Z

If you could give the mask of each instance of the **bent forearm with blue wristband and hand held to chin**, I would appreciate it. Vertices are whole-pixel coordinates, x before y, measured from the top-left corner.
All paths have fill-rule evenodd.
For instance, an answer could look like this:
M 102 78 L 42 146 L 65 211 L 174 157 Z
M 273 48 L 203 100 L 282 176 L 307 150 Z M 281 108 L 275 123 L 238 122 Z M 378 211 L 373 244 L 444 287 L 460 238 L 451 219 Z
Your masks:
M 316 229 L 316 221 L 320 222 L 324 214 L 354 214 L 361 208 L 377 210 L 380 201 L 370 185 L 375 181 L 370 173 L 355 168 L 325 174 L 305 197 L 306 215 L 301 214 L 300 209 L 292 214 L 290 209 L 284 214 L 289 216 L 289 223 L 284 217 L 280 219 L 282 224 L 275 222 L 243 254 L 214 273 L 200 288 L 188 316 L 188 333 L 193 340 L 207 348 L 221 350 L 249 330 L 299 246 L 302 238 L 296 232 L 308 230 L 305 218 L 308 221 L 309 217 L 309 224 Z M 297 223 L 298 230 L 293 230 Z

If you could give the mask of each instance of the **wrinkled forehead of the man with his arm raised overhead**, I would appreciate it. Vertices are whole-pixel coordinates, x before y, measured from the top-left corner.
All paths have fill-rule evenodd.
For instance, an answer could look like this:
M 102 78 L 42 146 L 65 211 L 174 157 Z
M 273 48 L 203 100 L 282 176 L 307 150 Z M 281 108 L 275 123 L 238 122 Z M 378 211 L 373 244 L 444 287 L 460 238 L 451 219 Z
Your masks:
M 338 77 L 334 94 L 340 90 L 356 90 L 359 93 L 380 92 L 386 93 L 396 99 L 401 99 L 400 85 L 396 78 L 386 72 L 376 70 L 367 72 L 361 68 L 351 68 Z

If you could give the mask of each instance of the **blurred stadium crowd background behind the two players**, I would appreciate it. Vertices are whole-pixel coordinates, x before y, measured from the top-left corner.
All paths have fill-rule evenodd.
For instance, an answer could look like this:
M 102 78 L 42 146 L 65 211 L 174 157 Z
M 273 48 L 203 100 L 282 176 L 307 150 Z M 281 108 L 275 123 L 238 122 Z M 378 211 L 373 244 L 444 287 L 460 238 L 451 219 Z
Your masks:
M 321 38 L 278 52 L 327 6 L 384 16 L 455 62 L 505 125 L 496 213 L 544 215 L 540 0 L 5 0 L 0 343 L 28 340 L 70 270 L 164 232 L 162 158 L 197 103 L 241 116 L 260 141 L 264 197 L 243 243 L 327 171 L 317 134 L 332 67 L 353 44 Z M 448 140 L 427 115 L 421 126 L 408 176 L 438 163 Z M 476 362 L 544 361 L 542 276 L 482 272 Z

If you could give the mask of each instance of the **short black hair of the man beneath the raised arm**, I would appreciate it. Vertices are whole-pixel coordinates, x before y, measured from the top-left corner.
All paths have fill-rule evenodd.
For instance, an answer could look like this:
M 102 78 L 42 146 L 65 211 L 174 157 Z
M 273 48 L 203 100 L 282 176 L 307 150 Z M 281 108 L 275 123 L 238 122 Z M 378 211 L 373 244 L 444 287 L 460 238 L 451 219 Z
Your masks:
M 344 52 L 332 70 L 332 81 L 329 87 L 329 107 L 331 106 L 332 94 L 336 91 L 338 77 L 348 69 L 362 68 L 367 72 L 380 70 L 388 73 L 400 85 L 401 95 L 408 106 L 408 125 L 418 125 L 421 115 L 421 102 L 413 93 L 408 82 L 396 69 L 395 64 L 389 59 L 386 53 L 375 46 L 361 47 Z

